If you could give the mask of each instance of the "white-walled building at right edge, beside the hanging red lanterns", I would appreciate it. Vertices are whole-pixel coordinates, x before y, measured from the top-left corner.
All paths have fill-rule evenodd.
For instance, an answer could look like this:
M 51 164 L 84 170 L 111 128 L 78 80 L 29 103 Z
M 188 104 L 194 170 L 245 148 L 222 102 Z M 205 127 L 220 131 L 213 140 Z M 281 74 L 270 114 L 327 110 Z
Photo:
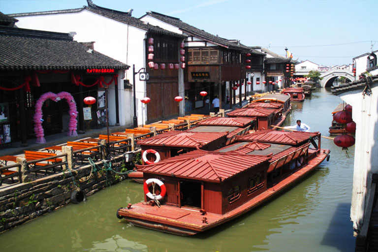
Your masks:
M 366 60 L 366 57 L 363 58 Z M 353 108 L 352 118 L 356 123 L 356 133 L 350 219 L 357 237 L 356 246 L 363 247 L 368 243 L 369 221 L 377 200 L 378 76 L 332 87 L 332 93 L 340 96 Z M 377 233 L 375 225 L 371 226 L 369 232 L 372 231 Z M 356 251 L 366 250 L 356 248 Z

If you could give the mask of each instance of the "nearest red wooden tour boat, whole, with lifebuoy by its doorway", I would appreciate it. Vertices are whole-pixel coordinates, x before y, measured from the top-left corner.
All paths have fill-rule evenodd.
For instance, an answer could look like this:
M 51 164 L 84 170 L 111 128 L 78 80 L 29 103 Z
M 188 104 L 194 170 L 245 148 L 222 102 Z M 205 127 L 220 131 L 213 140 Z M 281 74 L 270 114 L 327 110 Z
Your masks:
M 195 150 L 144 165 L 145 202 L 118 209 L 117 217 L 178 235 L 214 228 L 272 199 L 328 160 L 330 151 L 320 149 L 320 139 L 318 132 L 262 130 L 237 136 L 216 151 Z

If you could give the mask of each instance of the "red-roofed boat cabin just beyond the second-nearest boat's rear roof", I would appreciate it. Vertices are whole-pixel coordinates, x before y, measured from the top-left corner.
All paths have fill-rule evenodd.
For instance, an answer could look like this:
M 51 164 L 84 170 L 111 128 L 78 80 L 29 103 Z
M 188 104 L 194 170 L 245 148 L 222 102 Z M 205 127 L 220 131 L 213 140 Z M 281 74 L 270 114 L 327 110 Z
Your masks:
M 263 108 L 239 108 L 228 112 L 228 117 L 250 117 L 256 118 L 256 129 L 268 129 L 274 125 L 277 110 Z

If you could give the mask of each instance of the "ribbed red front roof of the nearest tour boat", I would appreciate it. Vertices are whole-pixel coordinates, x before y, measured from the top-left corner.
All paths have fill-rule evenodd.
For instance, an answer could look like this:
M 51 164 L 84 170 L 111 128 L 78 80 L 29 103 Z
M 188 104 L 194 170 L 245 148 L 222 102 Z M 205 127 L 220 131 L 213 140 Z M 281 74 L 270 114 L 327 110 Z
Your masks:
M 138 167 L 138 170 L 146 174 L 221 182 L 269 159 L 265 156 L 205 152 L 196 156 L 183 155 L 180 158 L 166 159 Z

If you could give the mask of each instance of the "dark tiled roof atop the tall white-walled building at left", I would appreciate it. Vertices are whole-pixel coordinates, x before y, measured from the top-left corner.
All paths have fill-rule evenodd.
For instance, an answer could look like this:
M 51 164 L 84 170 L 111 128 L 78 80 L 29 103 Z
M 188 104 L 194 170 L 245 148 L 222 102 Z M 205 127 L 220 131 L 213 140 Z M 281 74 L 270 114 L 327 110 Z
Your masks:
M 162 29 L 158 26 L 146 24 L 146 23 L 142 22 L 141 20 L 132 17 L 129 12 L 122 12 L 122 11 L 118 11 L 118 10 L 103 8 L 103 7 L 99 7 L 95 4 L 90 4 L 90 6 L 83 6 L 83 8 L 77 8 L 77 9 L 53 10 L 53 11 L 41 11 L 41 12 L 29 12 L 29 13 L 16 13 L 16 14 L 9 14 L 9 16 L 11 16 L 11 17 L 23 17 L 23 16 L 34 16 L 34 15 L 75 13 L 75 12 L 83 11 L 85 9 L 89 10 L 91 12 L 94 12 L 96 14 L 99 14 L 101 16 L 119 21 L 121 23 L 125 23 L 125 24 L 128 24 L 128 25 L 146 30 L 147 32 L 164 34 L 164 35 L 169 35 L 169 36 L 177 37 L 177 38 L 185 38 L 186 37 L 184 35 L 181 35 L 181 34 L 178 34 L 178 33 L 175 33 L 175 32 L 169 32 L 169 31 L 164 30 L 164 29 Z

